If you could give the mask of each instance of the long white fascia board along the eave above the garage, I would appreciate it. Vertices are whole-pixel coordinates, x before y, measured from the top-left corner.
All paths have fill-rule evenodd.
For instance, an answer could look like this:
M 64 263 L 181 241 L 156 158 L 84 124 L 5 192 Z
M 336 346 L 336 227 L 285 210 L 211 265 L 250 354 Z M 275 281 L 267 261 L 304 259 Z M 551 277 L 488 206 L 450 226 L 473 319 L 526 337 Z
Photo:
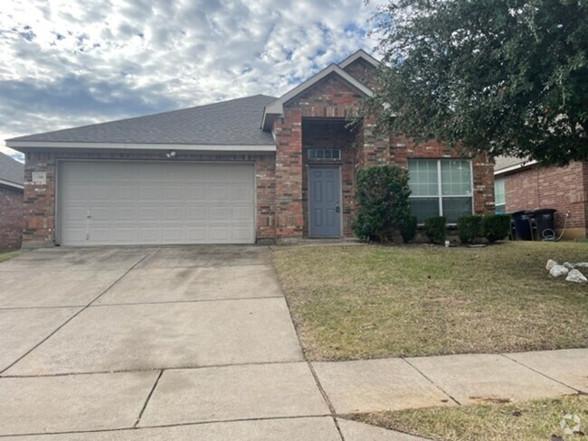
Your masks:
M 194 152 L 275 152 L 276 145 L 205 145 L 205 144 L 119 144 L 119 143 L 64 143 L 38 141 L 6 141 L 6 145 L 24 152 L 43 148 L 71 148 L 98 150 L 178 150 Z

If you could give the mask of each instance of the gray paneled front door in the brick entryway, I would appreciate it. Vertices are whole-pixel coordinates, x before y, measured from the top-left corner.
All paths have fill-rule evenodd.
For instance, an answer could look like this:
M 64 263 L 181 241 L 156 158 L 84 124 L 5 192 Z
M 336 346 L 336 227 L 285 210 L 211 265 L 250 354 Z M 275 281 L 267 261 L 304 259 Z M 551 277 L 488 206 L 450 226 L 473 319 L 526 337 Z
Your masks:
M 308 168 L 308 235 L 341 236 L 340 175 L 338 167 Z

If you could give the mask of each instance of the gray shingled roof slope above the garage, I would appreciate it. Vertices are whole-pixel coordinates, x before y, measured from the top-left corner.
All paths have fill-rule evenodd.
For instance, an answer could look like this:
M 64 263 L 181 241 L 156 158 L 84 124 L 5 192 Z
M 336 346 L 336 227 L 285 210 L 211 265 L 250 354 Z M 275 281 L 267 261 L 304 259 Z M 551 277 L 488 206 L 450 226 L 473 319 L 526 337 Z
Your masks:
M 275 98 L 254 95 L 195 108 L 133 117 L 7 141 L 111 144 L 274 145 L 260 128 L 263 108 Z

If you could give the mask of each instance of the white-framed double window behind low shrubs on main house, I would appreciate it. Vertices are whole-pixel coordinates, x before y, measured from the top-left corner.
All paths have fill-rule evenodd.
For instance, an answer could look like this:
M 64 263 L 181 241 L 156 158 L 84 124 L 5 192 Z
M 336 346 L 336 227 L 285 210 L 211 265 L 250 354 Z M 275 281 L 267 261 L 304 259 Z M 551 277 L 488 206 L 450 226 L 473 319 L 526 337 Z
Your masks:
M 445 216 L 448 223 L 472 213 L 469 159 L 409 159 L 411 211 L 419 223 Z

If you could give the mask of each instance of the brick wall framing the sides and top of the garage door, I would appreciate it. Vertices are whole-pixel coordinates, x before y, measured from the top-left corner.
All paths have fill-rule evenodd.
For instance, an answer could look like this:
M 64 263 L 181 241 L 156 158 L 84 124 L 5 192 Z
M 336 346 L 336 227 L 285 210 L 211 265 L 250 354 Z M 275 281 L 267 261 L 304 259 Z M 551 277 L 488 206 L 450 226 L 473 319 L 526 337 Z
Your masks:
M 24 247 L 52 246 L 55 235 L 55 178 L 60 159 L 122 159 L 169 161 L 165 153 L 46 152 L 26 154 L 24 164 Z M 255 163 L 257 239 L 275 239 L 275 158 L 273 155 L 200 155 L 177 152 L 174 161 Z M 33 172 L 46 172 L 46 184 L 33 184 Z

